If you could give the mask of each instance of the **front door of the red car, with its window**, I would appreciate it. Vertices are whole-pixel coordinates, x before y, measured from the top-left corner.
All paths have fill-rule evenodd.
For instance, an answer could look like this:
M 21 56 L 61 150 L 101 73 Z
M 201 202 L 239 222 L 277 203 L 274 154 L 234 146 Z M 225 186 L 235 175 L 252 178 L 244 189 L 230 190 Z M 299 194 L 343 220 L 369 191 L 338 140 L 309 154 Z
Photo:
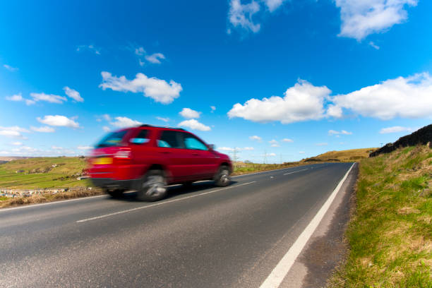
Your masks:
M 198 179 L 205 179 L 215 174 L 217 170 L 217 157 L 208 149 L 198 137 L 191 133 L 182 133 L 184 146 L 190 151 L 193 173 Z

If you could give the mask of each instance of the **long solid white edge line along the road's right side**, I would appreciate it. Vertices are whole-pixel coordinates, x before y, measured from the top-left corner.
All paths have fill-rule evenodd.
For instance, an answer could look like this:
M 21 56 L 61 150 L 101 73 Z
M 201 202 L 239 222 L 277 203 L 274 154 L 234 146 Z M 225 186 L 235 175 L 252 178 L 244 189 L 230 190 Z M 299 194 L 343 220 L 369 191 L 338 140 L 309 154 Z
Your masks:
M 352 167 L 354 166 L 354 164 L 352 164 L 351 167 L 349 167 L 348 172 L 344 175 L 344 177 L 339 182 L 339 184 L 337 184 L 335 190 L 333 190 L 329 198 L 323 204 L 323 207 L 320 208 L 320 210 L 316 213 L 315 217 L 313 217 L 313 219 L 308 224 L 308 226 L 304 229 L 303 232 L 301 232 L 299 238 L 296 239 L 294 244 L 292 244 L 292 246 L 289 248 L 288 252 L 279 261 L 279 263 L 277 263 L 276 267 L 272 270 L 270 275 L 268 275 L 268 277 L 265 279 L 263 284 L 261 284 L 260 288 L 279 287 L 279 285 L 284 280 L 284 277 L 288 274 L 289 270 L 294 264 L 294 261 L 296 260 L 297 256 L 299 256 L 304 246 L 311 238 L 316 227 L 318 227 L 318 224 L 320 224 L 321 220 L 323 220 L 325 212 L 327 212 L 328 208 L 330 207 L 333 200 L 335 199 L 337 193 L 340 191 L 342 184 L 344 183 L 345 179 L 347 179 L 347 176 L 351 171 Z

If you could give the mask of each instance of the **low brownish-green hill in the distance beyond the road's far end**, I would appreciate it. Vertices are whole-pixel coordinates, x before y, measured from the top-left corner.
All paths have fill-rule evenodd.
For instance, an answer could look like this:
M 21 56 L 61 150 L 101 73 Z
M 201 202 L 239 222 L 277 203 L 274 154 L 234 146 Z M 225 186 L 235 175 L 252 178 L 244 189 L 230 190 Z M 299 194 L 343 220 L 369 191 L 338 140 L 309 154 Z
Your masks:
M 369 157 L 377 148 L 362 148 L 341 151 L 329 151 L 315 157 L 306 158 L 301 162 L 356 162 Z

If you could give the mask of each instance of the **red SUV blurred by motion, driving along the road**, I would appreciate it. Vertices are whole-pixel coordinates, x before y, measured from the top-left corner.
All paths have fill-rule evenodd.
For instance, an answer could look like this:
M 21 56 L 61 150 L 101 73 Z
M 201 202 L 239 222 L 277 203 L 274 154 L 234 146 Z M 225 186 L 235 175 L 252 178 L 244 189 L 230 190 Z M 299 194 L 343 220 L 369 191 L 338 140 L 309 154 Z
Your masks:
M 142 125 L 109 133 L 95 146 L 88 160 L 93 185 L 114 197 L 138 191 L 140 200 L 167 195 L 167 185 L 214 180 L 227 186 L 231 160 L 213 145 L 182 128 Z

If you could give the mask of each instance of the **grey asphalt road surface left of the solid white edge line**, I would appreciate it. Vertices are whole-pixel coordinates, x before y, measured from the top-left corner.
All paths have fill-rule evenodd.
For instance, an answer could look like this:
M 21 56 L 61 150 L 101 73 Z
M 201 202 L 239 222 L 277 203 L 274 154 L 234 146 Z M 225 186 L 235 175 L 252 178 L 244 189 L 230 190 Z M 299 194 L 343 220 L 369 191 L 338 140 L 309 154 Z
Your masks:
M 0 287 L 260 287 L 351 166 L 0 210 Z

